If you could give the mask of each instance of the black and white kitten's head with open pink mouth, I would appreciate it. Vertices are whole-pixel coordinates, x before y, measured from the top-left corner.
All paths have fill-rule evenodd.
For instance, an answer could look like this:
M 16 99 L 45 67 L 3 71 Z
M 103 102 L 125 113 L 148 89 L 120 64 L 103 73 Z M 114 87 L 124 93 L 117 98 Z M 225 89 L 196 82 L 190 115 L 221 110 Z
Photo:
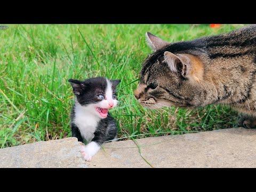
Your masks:
M 116 107 L 116 86 L 120 83 L 120 80 L 95 77 L 85 81 L 74 79 L 69 79 L 68 81 L 73 87 L 77 102 L 85 110 L 93 110 L 92 112 L 95 115 L 98 115 L 100 118 L 106 118 L 108 109 Z

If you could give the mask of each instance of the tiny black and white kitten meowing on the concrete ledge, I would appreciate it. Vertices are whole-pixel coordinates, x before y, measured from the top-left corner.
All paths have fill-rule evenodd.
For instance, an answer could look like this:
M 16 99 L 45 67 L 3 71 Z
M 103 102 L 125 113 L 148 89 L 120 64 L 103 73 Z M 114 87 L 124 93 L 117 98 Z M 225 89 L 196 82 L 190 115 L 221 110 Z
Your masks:
M 72 137 L 88 143 L 81 152 L 86 161 L 91 161 L 103 142 L 117 137 L 116 122 L 108 110 L 117 105 L 116 86 L 120 80 L 95 77 L 68 81 L 75 94 L 71 111 Z

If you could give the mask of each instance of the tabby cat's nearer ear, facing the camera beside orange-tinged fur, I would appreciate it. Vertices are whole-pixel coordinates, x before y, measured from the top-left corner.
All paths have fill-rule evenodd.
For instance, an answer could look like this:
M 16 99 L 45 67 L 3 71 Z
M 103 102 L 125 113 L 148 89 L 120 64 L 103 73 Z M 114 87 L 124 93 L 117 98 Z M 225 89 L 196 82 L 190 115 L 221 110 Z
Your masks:
M 185 77 L 190 69 L 189 58 L 178 57 L 177 55 L 165 51 L 164 52 L 164 61 L 168 64 L 171 71 L 174 73 L 180 73 L 183 77 Z

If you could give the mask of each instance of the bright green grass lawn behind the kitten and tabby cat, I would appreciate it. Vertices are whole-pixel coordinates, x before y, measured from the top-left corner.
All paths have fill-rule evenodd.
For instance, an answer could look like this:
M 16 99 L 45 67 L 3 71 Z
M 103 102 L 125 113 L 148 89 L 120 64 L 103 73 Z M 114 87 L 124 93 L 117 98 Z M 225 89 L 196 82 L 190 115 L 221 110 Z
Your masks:
M 0 30 L 0 148 L 70 137 L 73 93 L 69 78 L 122 79 L 111 111 L 118 136 L 153 137 L 233 127 L 236 113 L 223 106 L 197 110 L 142 108 L 133 96 L 145 33 L 169 42 L 231 31 L 240 25 L 9 25 Z M 152 133 L 152 134 L 149 134 Z

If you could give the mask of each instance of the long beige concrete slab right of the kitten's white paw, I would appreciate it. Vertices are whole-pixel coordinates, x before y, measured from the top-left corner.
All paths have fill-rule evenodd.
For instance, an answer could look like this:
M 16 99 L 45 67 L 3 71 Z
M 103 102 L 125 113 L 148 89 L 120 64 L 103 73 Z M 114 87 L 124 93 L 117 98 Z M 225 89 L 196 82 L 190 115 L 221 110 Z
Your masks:
M 256 130 L 233 128 L 138 139 L 153 167 L 256 167 Z M 148 146 L 147 146 L 148 145 Z M 130 147 L 130 148 L 127 148 Z M 89 167 L 150 167 L 132 140 L 106 143 Z

